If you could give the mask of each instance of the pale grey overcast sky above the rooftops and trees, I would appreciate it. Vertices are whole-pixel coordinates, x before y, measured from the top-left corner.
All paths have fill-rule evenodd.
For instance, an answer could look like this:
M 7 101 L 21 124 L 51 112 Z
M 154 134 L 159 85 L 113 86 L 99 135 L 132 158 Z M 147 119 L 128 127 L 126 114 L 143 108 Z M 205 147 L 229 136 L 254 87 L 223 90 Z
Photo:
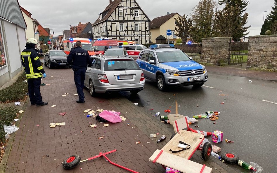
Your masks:
M 136 0 L 150 20 L 166 15 L 167 12 L 180 15 L 191 14 L 192 9 L 198 4 L 198 0 Z M 247 6 L 248 22 L 246 26 L 250 33 L 247 36 L 259 35 L 263 24 L 263 15 L 272 10 L 274 0 L 249 0 Z M 18 0 L 20 6 L 32 13 L 43 27 L 49 27 L 55 32 L 54 37 L 62 35 L 63 30 L 69 30 L 69 25 L 77 26 L 79 22 L 94 23 L 109 4 L 109 0 L 47 0 L 30 1 Z M 264 11 L 267 11 L 264 13 Z M 51 30 L 52 32 L 52 30 Z

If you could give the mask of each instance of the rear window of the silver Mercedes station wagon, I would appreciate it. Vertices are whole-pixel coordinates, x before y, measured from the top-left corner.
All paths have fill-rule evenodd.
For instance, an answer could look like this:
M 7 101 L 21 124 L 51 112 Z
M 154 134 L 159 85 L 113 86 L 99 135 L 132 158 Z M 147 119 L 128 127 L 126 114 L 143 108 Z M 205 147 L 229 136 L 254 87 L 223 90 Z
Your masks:
M 135 60 L 105 60 L 104 70 L 139 70 Z

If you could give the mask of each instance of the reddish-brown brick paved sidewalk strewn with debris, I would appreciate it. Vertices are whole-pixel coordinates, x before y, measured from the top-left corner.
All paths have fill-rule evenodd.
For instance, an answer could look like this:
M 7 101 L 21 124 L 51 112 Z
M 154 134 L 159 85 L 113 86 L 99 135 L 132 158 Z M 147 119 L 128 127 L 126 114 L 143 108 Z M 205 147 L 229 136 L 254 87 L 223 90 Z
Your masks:
M 86 103 L 78 104 L 76 103 L 78 96 L 74 96 L 77 92 L 73 81 L 73 71 L 47 67 L 45 71 L 47 78 L 43 79 L 42 83 L 50 85 L 41 86 L 41 95 L 43 101 L 49 104 L 41 107 L 31 106 L 30 102 L 27 104 L 20 120 L 20 129 L 14 137 L 5 173 L 128 172 L 111 165 L 102 157 L 82 162 L 72 170 L 64 170 L 61 164 L 65 158 L 73 154 L 78 154 L 81 160 L 84 160 L 99 152 L 114 149 L 117 151 L 109 154 L 108 158 L 117 164 L 140 173 L 165 172 L 161 165 L 153 164 L 148 159 L 169 139 L 156 143 L 154 138 L 149 137 L 149 134 L 159 132 L 159 137 L 166 135 L 170 138 L 173 132 L 172 127 L 168 128 L 167 125 L 158 122 L 150 113 L 142 112 L 139 106 L 120 95 L 111 97 L 102 95 L 93 98 L 87 90 L 84 90 Z M 64 93 L 69 94 L 62 97 Z M 98 102 L 100 100 L 104 102 Z M 56 107 L 52 108 L 51 105 L 54 104 Z M 104 127 L 95 118 L 86 118 L 86 113 L 83 113 L 85 109 L 96 110 L 98 108 L 119 111 L 121 116 L 125 116 L 127 120 L 121 123 L 109 123 L 110 126 Z M 58 115 L 64 111 L 67 112 L 65 116 Z M 65 122 L 65 125 L 49 128 L 49 123 L 52 122 Z M 97 128 L 89 126 L 93 123 L 97 123 Z M 103 139 L 98 139 L 101 136 Z M 141 143 L 136 144 L 136 141 Z M 205 162 L 199 151 L 195 152 L 191 160 L 212 167 L 213 173 L 227 173 L 226 170 L 235 172 L 215 158 Z

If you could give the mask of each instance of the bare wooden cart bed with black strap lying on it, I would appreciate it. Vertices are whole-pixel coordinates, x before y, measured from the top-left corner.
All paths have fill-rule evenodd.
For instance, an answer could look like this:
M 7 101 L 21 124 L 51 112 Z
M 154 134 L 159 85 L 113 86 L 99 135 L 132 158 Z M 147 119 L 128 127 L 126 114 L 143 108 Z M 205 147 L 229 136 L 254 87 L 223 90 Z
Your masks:
M 172 139 L 170 139 L 170 141 L 162 148 L 162 150 L 164 152 L 177 155 L 181 158 L 190 159 L 203 140 L 204 135 L 202 134 L 189 132 L 186 130 L 180 130 L 178 133 L 175 134 L 175 136 Z M 178 153 L 172 153 L 171 151 L 169 151 L 170 149 L 172 151 L 181 150 L 182 148 L 177 147 L 179 141 L 191 145 L 191 148 L 186 149 L 184 151 L 180 151 Z

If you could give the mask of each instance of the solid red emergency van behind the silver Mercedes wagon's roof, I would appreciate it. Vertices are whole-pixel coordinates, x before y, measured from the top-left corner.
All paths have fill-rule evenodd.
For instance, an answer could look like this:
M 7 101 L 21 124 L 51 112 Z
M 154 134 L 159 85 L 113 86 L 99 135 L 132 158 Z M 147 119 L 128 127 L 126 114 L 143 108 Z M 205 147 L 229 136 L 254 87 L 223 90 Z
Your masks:
M 118 46 L 117 40 L 98 39 L 97 41 L 94 41 L 92 48 L 95 51 L 96 55 L 103 55 L 104 52 L 109 48 L 109 46 Z

